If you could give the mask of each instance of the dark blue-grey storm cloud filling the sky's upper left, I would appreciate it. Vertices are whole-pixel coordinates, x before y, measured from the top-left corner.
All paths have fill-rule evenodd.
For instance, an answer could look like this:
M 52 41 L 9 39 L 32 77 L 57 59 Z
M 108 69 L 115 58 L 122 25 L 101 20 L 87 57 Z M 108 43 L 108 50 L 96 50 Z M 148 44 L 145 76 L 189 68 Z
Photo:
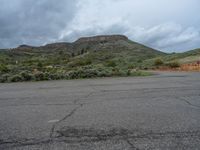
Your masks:
M 0 47 L 54 41 L 76 11 L 71 0 L 0 0 Z

